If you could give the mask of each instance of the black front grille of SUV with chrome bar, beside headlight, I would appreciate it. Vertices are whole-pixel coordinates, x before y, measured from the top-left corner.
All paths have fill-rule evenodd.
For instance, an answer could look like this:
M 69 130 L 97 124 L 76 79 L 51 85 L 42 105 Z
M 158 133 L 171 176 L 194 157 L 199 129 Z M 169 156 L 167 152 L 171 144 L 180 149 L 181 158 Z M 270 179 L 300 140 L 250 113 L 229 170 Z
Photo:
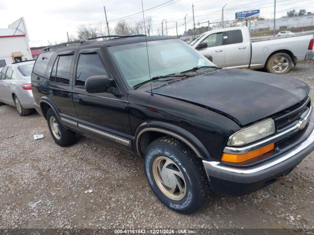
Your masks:
M 309 98 L 293 105 L 292 107 L 280 112 L 274 118 L 277 132 L 284 131 L 289 127 L 295 125 L 299 119 L 305 116 L 310 110 L 311 100 Z

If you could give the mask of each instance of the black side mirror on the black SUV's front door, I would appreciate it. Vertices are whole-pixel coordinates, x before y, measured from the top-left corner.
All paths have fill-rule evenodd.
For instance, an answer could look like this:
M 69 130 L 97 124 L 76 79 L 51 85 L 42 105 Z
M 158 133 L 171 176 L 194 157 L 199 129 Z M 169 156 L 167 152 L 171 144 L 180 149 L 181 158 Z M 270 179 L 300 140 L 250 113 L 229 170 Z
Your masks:
M 113 79 L 108 78 L 107 75 L 91 76 L 85 81 L 85 90 L 88 93 L 104 93 L 113 85 Z

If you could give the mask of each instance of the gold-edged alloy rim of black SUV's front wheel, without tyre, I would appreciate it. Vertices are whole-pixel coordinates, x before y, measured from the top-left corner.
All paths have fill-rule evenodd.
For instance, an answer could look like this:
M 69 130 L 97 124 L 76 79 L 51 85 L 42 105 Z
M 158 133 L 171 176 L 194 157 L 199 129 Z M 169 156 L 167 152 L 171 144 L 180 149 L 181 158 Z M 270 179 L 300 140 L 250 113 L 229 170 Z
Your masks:
M 153 163 L 153 175 L 164 195 L 176 201 L 183 199 L 186 194 L 186 182 L 177 164 L 169 158 L 158 157 Z

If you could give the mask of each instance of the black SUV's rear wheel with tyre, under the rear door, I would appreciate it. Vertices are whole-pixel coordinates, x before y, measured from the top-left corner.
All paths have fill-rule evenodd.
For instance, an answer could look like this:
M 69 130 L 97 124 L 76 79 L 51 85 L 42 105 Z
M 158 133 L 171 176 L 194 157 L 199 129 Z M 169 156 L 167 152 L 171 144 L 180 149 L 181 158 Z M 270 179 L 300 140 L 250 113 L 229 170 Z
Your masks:
M 76 133 L 64 128 L 52 109 L 47 111 L 47 122 L 50 134 L 58 145 L 66 147 L 76 142 Z

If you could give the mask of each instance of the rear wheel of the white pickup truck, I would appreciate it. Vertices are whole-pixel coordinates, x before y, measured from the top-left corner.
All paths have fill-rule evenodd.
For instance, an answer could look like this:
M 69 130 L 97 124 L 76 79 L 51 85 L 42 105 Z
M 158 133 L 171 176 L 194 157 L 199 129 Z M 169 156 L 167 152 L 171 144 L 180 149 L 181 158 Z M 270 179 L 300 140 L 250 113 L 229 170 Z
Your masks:
M 276 53 L 268 59 L 266 67 L 268 72 L 284 74 L 289 72 L 294 64 L 287 53 Z

